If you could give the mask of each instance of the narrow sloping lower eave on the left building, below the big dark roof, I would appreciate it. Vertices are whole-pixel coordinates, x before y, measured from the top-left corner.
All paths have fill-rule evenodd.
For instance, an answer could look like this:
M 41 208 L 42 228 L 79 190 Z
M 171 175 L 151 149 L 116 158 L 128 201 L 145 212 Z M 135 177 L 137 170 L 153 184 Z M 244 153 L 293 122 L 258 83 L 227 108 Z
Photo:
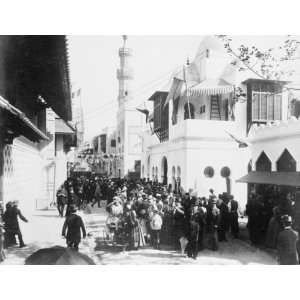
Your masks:
M 0 108 L 8 113 L 6 126 L 18 135 L 24 135 L 33 142 L 49 140 L 48 136 L 39 130 L 19 109 L 0 96 Z

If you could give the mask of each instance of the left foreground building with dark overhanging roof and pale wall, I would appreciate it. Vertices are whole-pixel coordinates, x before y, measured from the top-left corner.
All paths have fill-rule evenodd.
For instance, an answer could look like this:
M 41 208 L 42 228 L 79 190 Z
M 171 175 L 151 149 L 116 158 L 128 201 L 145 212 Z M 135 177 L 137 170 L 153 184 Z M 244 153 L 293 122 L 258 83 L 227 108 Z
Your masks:
M 0 65 L 0 201 L 44 208 L 55 185 L 55 114 L 72 117 L 66 39 L 3 36 Z

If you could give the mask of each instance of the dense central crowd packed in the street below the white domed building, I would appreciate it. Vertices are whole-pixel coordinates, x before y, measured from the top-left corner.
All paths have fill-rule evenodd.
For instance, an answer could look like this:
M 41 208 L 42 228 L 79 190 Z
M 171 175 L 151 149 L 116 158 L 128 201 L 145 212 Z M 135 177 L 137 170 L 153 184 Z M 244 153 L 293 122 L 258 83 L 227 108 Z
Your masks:
M 114 227 L 117 242 L 127 250 L 163 245 L 196 259 L 204 248 L 218 250 L 229 233 L 233 238 L 239 235 L 238 202 L 225 192 L 216 196 L 212 189 L 208 197 L 197 197 L 183 191 L 175 194 L 171 186 L 158 182 L 77 176 L 58 190 L 57 207 L 64 216 L 66 206 L 68 217 L 70 208 L 100 207 L 103 199 L 109 214 L 107 236 Z

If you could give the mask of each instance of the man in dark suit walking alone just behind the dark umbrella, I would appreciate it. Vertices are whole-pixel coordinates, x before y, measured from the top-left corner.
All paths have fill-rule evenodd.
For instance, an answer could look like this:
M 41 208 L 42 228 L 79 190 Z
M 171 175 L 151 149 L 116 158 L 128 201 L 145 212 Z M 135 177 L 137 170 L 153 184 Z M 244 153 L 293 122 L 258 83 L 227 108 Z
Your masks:
M 75 205 L 70 206 L 70 215 L 66 218 L 62 235 L 67 239 L 67 245 L 69 248 L 73 248 L 78 251 L 78 246 L 81 241 L 81 232 L 83 238 L 86 237 L 86 231 L 83 221 L 80 216 L 76 215 Z M 67 232 L 67 235 L 66 235 Z

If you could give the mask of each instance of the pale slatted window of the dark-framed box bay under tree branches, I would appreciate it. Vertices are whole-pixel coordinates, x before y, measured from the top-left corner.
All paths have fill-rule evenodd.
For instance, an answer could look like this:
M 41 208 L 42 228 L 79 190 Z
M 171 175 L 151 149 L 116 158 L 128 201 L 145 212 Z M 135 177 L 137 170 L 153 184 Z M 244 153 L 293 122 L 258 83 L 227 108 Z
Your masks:
M 282 95 L 269 92 L 252 93 L 252 119 L 254 121 L 281 120 Z

